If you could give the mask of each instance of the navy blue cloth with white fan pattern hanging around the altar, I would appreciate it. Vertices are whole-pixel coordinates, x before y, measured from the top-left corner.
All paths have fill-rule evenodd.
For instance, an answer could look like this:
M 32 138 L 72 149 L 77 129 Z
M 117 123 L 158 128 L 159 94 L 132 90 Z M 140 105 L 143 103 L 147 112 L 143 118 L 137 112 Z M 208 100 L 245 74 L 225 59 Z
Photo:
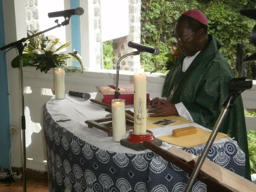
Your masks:
M 51 192 L 167 192 L 184 191 L 189 174 L 154 152 L 119 153 L 91 145 L 61 127 L 44 106 L 44 135 Z M 183 148 L 200 155 L 204 145 Z M 215 143 L 211 161 L 244 175 L 245 155 L 236 141 Z M 196 180 L 191 191 L 206 191 Z

